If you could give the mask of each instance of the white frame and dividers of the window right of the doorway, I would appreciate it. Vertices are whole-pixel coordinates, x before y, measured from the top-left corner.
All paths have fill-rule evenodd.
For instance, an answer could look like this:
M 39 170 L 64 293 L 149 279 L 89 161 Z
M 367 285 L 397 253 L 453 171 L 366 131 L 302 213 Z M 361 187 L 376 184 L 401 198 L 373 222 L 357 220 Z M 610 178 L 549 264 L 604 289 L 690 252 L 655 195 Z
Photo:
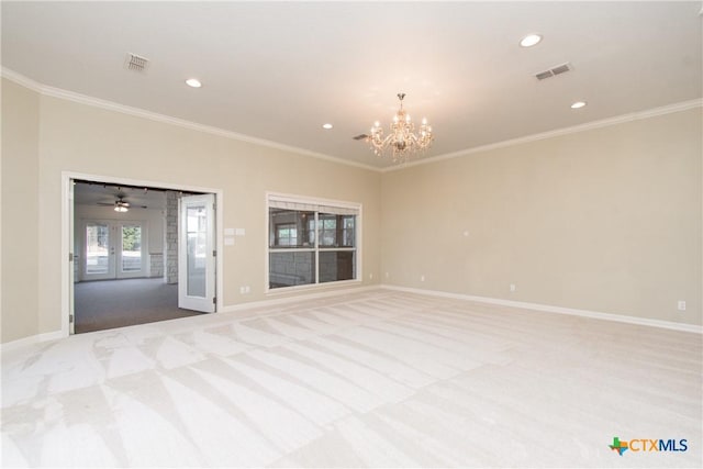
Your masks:
M 306 246 L 306 247 L 271 247 L 270 246 L 270 209 L 271 209 L 271 202 L 288 202 L 288 203 L 297 203 L 297 204 L 305 204 L 305 205 L 315 205 L 316 210 L 314 210 L 315 212 L 315 217 L 314 217 L 314 224 L 315 224 L 315 243 L 313 246 Z M 355 235 L 355 246 L 349 247 L 349 246 L 339 246 L 339 247 L 334 247 L 334 246 L 322 246 L 320 243 L 320 233 L 319 233 L 319 226 L 320 226 L 320 214 L 321 213 L 330 213 L 330 212 L 325 212 L 324 209 L 327 208 L 332 208 L 332 209 L 338 209 L 338 210 L 346 210 L 346 211 L 353 211 L 355 212 L 353 215 L 348 215 L 348 216 L 354 216 L 355 217 L 355 226 L 354 226 L 354 235 Z M 264 269 L 264 291 L 266 294 L 277 294 L 277 293 L 289 293 L 292 291 L 299 291 L 299 290 L 316 290 L 316 289 L 325 289 L 325 288 L 331 288 L 331 287 L 339 287 L 342 284 L 353 284 L 353 283 L 361 283 L 362 279 L 364 279 L 364 271 L 362 271 L 362 263 L 361 263 L 361 257 L 362 257 L 362 246 L 361 246 L 361 239 L 362 239 L 362 204 L 361 203 L 356 203 L 356 202 L 347 202 L 347 201 L 339 201 L 339 200 L 331 200 L 331 199 L 317 199 L 317 198 L 309 198 L 309 197 L 301 197 L 301 196 L 294 196 L 294 194 L 287 194 L 287 193 L 279 193 L 279 192 L 266 192 L 266 204 L 265 204 L 265 230 L 264 232 L 266 233 L 266 249 L 265 249 L 265 269 Z M 348 230 L 348 228 L 347 228 Z M 346 233 L 346 230 L 343 227 L 341 231 L 338 231 L 339 234 L 342 233 Z M 300 233 L 299 233 L 300 235 Z M 315 281 L 314 283 L 306 283 L 306 284 L 297 284 L 297 286 L 288 286 L 288 287 L 277 287 L 277 288 L 270 288 L 270 255 L 271 253 L 303 253 L 303 252 L 308 252 L 308 253 L 314 253 L 314 264 L 315 264 Z M 355 278 L 353 279 L 347 279 L 347 280 L 333 280 L 333 281 L 325 281 L 325 282 L 321 282 L 320 281 L 320 254 L 321 253 L 327 253 L 327 252 L 354 252 L 355 256 L 354 256 L 354 272 L 355 272 Z

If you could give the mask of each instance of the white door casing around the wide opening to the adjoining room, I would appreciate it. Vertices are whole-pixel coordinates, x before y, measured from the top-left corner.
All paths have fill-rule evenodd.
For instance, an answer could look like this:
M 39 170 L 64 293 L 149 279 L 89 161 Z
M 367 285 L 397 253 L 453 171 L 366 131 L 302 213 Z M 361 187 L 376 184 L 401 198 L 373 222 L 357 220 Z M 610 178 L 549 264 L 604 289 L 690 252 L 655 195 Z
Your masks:
M 202 192 L 212 193 L 215 197 L 215 245 L 217 246 L 217 256 L 215 258 L 215 291 L 216 303 L 215 313 L 223 311 L 223 284 L 224 284 L 224 253 L 223 244 L 223 213 L 224 213 L 224 190 L 220 188 L 208 188 L 189 185 L 175 185 L 172 182 L 159 182 L 144 179 L 122 178 L 115 176 L 105 175 L 89 175 L 85 172 L 76 171 L 62 171 L 62 337 L 68 337 L 71 334 L 72 327 L 70 326 L 70 316 L 74 315 L 74 282 L 72 282 L 72 269 L 74 261 L 69 256 L 74 253 L 72 246 L 72 230 L 74 230 L 74 179 L 107 182 L 111 185 L 124 185 L 124 186 L 145 186 L 168 190 L 182 190 L 187 192 Z

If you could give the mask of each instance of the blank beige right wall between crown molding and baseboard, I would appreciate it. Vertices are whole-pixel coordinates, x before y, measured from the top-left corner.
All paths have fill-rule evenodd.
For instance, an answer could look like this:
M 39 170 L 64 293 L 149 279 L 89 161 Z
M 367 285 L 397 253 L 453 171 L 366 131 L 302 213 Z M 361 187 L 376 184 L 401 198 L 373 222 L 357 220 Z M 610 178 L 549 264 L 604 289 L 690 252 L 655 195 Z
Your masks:
M 694 109 L 388 172 L 384 283 L 701 324 L 701 125 Z

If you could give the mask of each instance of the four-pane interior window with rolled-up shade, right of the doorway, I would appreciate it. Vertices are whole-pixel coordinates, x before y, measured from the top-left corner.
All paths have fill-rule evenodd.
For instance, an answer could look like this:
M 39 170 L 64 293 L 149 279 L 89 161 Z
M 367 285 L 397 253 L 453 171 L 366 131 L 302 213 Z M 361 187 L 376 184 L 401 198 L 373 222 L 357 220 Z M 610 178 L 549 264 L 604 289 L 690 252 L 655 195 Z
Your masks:
M 356 280 L 360 205 L 270 194 L 268 286 Z

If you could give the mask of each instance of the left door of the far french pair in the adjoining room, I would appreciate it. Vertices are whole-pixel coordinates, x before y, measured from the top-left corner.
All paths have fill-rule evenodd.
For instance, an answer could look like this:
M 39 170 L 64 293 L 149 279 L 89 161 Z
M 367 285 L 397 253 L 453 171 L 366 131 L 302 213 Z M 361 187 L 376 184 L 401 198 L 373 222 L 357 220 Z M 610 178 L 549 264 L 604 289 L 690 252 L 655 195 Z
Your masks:
M 112 225 L 108 221 L 83 224 L 83 280 L 115 278 L 115 256 Z

